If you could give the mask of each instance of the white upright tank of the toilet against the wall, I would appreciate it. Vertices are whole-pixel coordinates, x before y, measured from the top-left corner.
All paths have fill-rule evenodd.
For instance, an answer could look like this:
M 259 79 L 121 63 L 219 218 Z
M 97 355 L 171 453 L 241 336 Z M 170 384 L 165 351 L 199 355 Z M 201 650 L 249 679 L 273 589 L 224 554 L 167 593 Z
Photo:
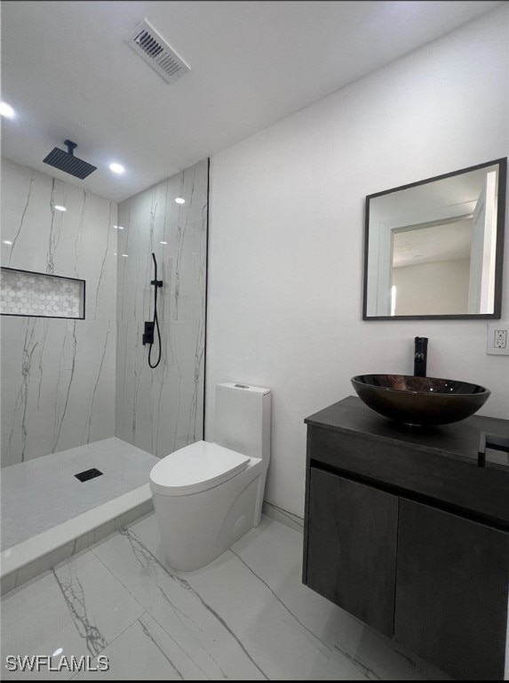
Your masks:
M 269 389 L 224 382 L 216 386 L 214 441 L 251 458 L 270 459 Z

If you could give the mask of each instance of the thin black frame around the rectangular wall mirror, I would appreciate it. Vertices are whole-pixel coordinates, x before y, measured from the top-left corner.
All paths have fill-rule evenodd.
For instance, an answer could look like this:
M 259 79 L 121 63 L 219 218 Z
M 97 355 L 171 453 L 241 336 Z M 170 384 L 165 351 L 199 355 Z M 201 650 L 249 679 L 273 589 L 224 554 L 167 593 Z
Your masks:
M 495 296 L 493 301 L 493 313 L 461 313 L 436 316 L 369 316 L 368 315 L 368 252 L 370 240 L 370 199 L 382 197 L 401 189 L 410 189 L 425 185 L 428 182 L 441 181 L 451 178 L 461 173 L 478 171 L 487 166 L 498 165 L 498 200 L 497 200 L 497 247 L 495 253 Z M 505 190 L 507 185 L 507 157 L 488 161 L 485 164 L 468 166 L 451 173 L 435 175 L 433 178 L 426 178 L 424 181 L 410 182 L 408 185 L 400 185 L 398 188 L 386 189 L 382 192 L 375 192 L 366 195 L 365 218 L 364 218 L 364 275 L 362 293 L 362 320 L 473 320 L 479 318 L 489 318 L 499 320 L 502 315 L 502 274 L 504 266 L 504 233 L 505 233 Z

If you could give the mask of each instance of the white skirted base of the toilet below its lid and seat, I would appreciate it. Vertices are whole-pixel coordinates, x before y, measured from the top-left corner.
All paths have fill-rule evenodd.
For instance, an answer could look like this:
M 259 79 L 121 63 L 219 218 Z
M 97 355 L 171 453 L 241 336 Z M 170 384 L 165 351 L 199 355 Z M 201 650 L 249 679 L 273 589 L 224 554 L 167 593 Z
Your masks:
M 152 491 L 164 555 L 173 569 L 188 572 L 209 564 L 258 526 L 266 469 L 251 458 L 246 470 L 200 493 Z

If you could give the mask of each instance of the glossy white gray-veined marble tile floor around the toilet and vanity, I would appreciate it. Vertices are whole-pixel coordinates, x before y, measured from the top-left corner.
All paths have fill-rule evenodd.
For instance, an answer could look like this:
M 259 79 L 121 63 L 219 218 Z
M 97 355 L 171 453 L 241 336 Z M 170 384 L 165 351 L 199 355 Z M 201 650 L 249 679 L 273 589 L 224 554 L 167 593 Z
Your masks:
M 262 517 L 195 572 L 166 568 L 154 514 L 2 599 L 4 679 L 448 679 L 303 586 L 302 534 Z M 61 648 L 61 650 L 60 650 Z M 109 671 L 9 672 L 6 655 Z

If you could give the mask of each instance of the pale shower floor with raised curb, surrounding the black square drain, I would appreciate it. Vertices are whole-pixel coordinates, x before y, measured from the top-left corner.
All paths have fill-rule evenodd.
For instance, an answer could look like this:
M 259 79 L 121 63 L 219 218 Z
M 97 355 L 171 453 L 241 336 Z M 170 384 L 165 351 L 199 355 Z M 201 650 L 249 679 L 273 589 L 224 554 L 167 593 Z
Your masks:
M 4 467 L 2 593 L 153 510 L 148 481 L 156 462 L 112 437 Z

